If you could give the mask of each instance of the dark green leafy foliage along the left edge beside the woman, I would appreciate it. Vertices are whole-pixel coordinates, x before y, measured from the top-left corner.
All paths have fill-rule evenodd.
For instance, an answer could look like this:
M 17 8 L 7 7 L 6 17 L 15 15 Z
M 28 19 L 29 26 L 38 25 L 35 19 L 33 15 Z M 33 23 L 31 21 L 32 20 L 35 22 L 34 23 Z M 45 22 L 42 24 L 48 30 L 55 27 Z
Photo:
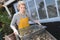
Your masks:
M 10 28 L 11 19 L 9 19 L 8 13 L 5 9 L 0 9 L 0 40 L 5 35 L 9 35 L 12 33 Z

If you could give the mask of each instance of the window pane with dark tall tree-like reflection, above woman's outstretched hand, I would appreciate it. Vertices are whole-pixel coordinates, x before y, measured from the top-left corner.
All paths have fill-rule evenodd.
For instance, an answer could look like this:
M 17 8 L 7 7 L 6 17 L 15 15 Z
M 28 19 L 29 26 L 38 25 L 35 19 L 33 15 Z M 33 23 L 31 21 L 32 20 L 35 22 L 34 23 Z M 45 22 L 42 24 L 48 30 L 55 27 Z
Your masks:
M 35 0 L 40 19 L 47 18 L 43 0 Z

